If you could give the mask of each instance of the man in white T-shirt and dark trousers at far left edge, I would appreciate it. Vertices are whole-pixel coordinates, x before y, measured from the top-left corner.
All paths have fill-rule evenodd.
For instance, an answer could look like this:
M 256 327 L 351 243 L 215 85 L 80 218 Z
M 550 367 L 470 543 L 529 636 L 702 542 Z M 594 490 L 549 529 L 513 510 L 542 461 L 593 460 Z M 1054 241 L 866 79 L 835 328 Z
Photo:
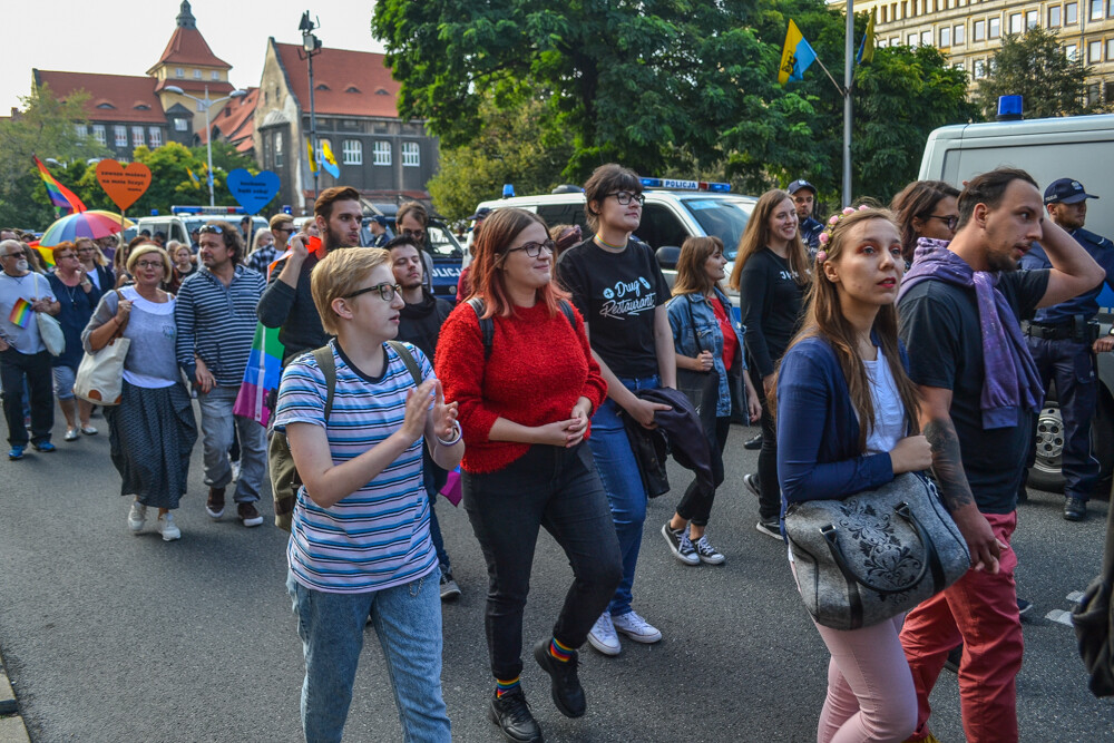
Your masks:
M 31 446 L 53 451 L 50 430 L 55 426 L 55 395 L 50 389 L 50 353 L 39 336 L 35 313 L 61 312 L 46 278 L 28 267 L 29 248 L 18 239 L 0 242 L 0 388 L 8 423 L 8 459 L 22 459 L 27 449 L 23 424 L 23 384 L 30 391 Z

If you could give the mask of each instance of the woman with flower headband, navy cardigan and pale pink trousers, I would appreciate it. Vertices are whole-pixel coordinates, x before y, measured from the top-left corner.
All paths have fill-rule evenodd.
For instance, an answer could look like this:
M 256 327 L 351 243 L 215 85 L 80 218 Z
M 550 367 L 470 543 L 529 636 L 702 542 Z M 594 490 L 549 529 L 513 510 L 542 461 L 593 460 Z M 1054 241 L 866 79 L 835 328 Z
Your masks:
M 782 518 L 791 502 L 846 498 L 932 463 L 898 341 L 893 303 L 905 261 L 891 214 L 844 209 L 820 241 L 804 329 L 776 374 Z M 851 630 L 817 624 L 831 652 L 820 743 L 912 734 L 917 694 L 899 638 L 903 616 Z

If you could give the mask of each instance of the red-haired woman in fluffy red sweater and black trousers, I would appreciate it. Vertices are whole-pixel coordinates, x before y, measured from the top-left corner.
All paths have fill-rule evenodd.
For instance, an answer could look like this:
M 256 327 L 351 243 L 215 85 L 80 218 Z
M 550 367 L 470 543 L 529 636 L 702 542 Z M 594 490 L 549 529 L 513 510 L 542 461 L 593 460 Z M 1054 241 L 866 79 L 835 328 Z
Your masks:
M 538 528 L 553 535 L 574 580 L 553 636 L 534 646 L 561 714 L 585 712 L 577 651 L 622 579 L 618 539 L 586 440 L 607 395 L 584 321 L 553 283 L 554 243 L 522 209 L 483 223 L 472 261 L 473 294 L 441 327 L 437 378 L 459 404 L 465 431 L 465 508 L 487 560 L 488 651 L 496 690 L 489 716 L 515 741 L 541 731 L 519 685 L 522 609 Z M 479 313 L 494 324 L 485 348 Z M 566 315 L 567 313 L 567 315 Z

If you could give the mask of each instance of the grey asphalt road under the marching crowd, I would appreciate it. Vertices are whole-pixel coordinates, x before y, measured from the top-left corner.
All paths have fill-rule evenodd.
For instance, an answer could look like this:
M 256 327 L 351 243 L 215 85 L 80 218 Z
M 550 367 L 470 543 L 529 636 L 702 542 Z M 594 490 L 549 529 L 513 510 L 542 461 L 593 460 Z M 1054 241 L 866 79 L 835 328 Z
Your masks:
M 59 451 L 0 462 L 0 652 L 31 739 L 52 741 L 297 741 L 303 674 L 285 579 L 285 532 L 244 529 L 204 512 L 201 447 L 178 511 L 180 541 L 127 531 L 128 504 L 102 434 Z M 686 567 L 659 535 L 677 496 L 652 501 L 635 607 L 665 635 L 626 642 L 616 658 L 585 646 L 588 713 L 566 720 L 546 677 L 527 659 L 522 683 L 549 741 L 813 741 L 828 655 L 794 589 L 785 547 L 755 531 L 756 502 L 742 485 L 754 452 L 735 427 L 727 481 L 710 536 L 722 567 Z M 1025 623 L 1018 677 L 1022 739 L 1114 741 L 1114 703 L 1086 688 L 1071 627 L 1048 618 L 1098 571 L 1107 504 L 1068 524 L 1062 499 L 1033 493 L 1015 539 Z M 229 509 L 231 510 L 231 509 Z M 443 688 L 453 735 L 499 741 L 487 721 L 491 691 L 483 642 L 486 576 L 462 510 L 439 501 L 463 589 L 446 605 Z M 525 644 L 547 636 L 570 570 L 544 536 L 526 612 Z M 401 731 L 373 632 L 361 659 L 346 740 L 393 741 Z M 527 657 L 528 652 L 527 652 Z M 962 741 L 956 677 L 932 697 L 932 731 Z

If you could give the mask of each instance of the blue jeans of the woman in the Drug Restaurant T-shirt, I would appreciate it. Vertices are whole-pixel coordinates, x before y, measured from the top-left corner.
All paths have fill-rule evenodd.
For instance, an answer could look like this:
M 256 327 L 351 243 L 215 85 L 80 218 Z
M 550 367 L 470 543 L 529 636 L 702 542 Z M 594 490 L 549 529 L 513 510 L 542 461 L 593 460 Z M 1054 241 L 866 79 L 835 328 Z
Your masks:
M 619 381 L 632 392 L 662 385 L 656 375 L 620 378 Z M 607 502 L 612 507 L 612 520 L 615 522 L 615 535 L 619 538 L 619 554 L 623 556 L 623 580 L 607 607 L 612 616 L 620 616 L 631 610 L 634 570 L 642 548 L 642 526 L 646 521 L 647 500 L 638 462 L 618 417 L 620 410 L 610 398 L 605 400 L 592 417 L 592 438 L 588 439 L 599 481 L 604 485 Z

